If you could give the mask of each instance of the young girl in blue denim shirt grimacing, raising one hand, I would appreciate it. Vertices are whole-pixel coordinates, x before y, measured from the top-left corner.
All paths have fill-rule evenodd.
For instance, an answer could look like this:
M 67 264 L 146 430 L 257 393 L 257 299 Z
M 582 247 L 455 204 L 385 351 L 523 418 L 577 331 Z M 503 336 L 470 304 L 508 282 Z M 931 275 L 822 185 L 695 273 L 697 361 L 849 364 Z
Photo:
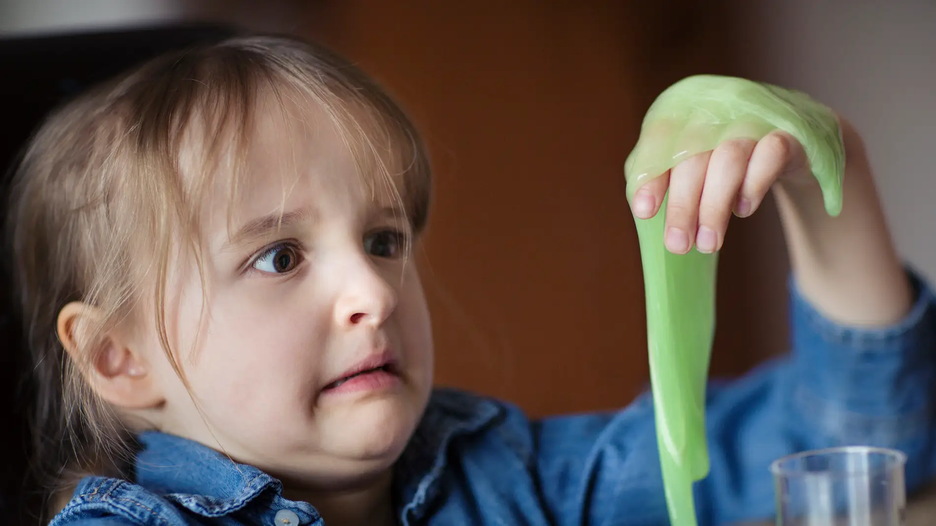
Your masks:
M 780 133 L 634 201 L 651 217 L 668 189 L 668 247 L 717 250 L 772 187 L 788 236 L 794 353 L 712 388 L 702 524 L 768 517 L 768 462 L 801 449 L 901 448 L 911 488 L 936 473 L 932 297 L 844 137 L 836 220 Z M 388 96 L 289 38 L 172 53 L 56 111 L 8 218 L 51 524 L 665 523 L 648 399 L 531 420 L 432 390 L 410 260 L 430 179 Z

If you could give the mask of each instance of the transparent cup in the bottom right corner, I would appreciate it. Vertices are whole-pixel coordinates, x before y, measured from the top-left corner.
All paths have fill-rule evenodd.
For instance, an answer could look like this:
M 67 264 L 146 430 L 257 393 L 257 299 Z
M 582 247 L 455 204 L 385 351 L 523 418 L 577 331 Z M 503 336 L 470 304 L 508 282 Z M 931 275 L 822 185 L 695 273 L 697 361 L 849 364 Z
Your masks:
M 905 462 L 897 450 L 865 447 L 774 461 L 777 526 L 903 526 Z

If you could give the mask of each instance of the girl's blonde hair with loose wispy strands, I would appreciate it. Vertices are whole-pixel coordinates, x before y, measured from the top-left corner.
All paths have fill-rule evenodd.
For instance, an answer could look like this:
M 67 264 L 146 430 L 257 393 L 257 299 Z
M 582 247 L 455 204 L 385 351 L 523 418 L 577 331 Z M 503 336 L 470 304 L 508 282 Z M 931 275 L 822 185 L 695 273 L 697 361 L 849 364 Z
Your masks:
M 193 239 L 198 253 L 196 208 L 212 174 L 230 178 L 234 198 L 261 94 L 283 111 L 286 100 L 321 107 L 363 177 L 387 185 L 415 231 L 424 226 L 431 172 L 414 125 L 358 68 L 297 39 L 238 36 L 168 53 L 54 111 L 23 152 L 7 217 L 34 373 L 34 463 L 47 490 L 72 471 L 107 465 L 122 474 L 131 434 L 81 371 L 95 361 L 100 334 L 150 297 L 177 363 L 163 305 L 173 240 Z M 183 135 L 204 140 L 204 177 L 194 182 L 180 167 Z M 80 360 L 56 334 L 58 312 L 72 301 L 103 313 Z

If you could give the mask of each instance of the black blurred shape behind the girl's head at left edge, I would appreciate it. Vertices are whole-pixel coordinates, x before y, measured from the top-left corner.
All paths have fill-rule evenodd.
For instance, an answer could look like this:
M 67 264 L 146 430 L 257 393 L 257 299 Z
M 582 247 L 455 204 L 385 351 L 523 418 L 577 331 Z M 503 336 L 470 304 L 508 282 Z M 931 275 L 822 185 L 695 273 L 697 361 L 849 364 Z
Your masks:
M 145 29 L 70 36 L 0 38 L 0 180 L 6 215 L 7 169 L 15 162 L 23 143 L 32 135 L 43 116 L 69 96 L 132 64 L 171 48 L 182 47 L 199 38 L 223 35 L 211 26 Z M 7 264 L 3 253 L 4 266 Z M 3 273 L 9 276 L 8 272 Z M 0 524 L 14 524 L 15 511 L 35 496 L 35 488 L 23 485 L 29 459 L 26 401 L 29 399 L 28 365 L 22 348 L 20 320 L 9 308 L 9 281 L 0 279 Z M 49 330 L 54 330 L 50 327 Z M 5 517 L 4 513 L 9 517 Z M 30 522 L 35 523 L 35 520 Z

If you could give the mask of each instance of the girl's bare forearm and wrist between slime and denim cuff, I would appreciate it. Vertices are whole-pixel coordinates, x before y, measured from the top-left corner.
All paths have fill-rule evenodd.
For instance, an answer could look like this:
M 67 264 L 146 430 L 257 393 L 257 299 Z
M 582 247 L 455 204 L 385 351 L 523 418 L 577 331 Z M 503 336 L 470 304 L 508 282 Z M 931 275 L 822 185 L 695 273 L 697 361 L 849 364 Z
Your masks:
M 885 325 L 910 309 L 910 282 L 887 231 L 861 138 L 847 121 L 841 128 L 846 161 L 839 217 L 826 214 L 815 184 L 781 180 L 774 187 L 790 262 L 799 291 L 828 319 Z

